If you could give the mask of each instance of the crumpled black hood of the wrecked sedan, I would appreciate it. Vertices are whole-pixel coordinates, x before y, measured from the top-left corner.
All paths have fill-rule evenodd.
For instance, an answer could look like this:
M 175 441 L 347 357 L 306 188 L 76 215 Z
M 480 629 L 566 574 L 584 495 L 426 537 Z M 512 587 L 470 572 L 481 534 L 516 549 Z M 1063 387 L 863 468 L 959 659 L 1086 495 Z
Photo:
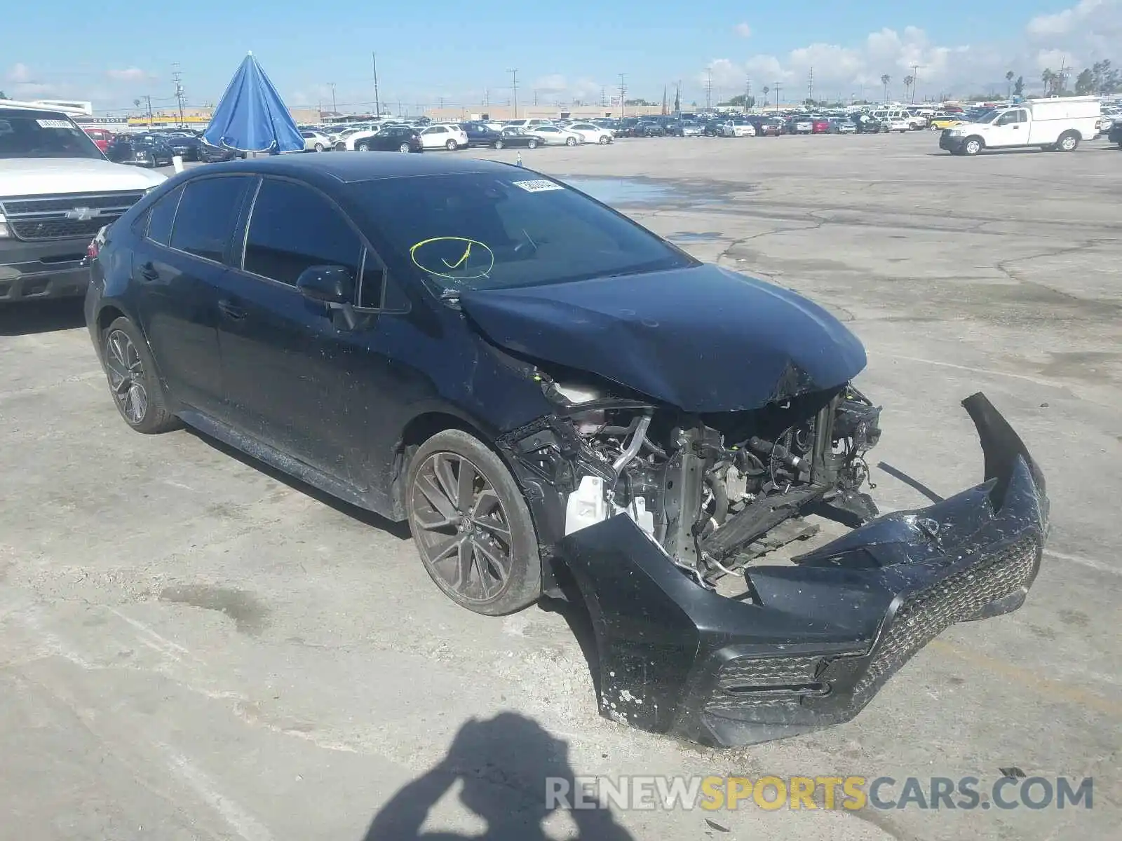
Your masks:
M 460 295 L 490 341 L 687 412 L 736 412 L 840 386 L 861 341 L 813 302 L 717 266 Z

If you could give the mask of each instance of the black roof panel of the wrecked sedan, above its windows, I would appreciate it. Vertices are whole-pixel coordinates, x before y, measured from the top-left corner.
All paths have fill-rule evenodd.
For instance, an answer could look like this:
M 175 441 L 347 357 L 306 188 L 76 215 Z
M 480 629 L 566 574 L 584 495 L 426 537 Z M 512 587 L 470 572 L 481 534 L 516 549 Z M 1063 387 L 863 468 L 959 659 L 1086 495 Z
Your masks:
M 380 178 L 408 178 L 431 175 L 508 173 L 509 164 L 447 155 L 388 155 L 378 153 L 332 153 L 330 155 L 272 155 L 264 158 L 231 160 L 212 167 L 191 169 L 192 175 L 247 173 L 286 175 L 307 181 L 334 181 L 351 184 Z

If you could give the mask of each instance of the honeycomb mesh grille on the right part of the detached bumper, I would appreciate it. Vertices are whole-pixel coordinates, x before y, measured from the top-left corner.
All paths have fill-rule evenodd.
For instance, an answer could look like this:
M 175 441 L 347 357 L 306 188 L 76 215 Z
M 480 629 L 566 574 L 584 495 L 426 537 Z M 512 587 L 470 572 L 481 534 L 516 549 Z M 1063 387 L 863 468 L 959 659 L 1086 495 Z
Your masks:
M 1023 537 L 908 597 L 854 687 L 854 701 L 867 701 L 884 681 L 951 625 L 971 619 L 986 604 L 1028 584 L 1039 554 L 1039 539 Z

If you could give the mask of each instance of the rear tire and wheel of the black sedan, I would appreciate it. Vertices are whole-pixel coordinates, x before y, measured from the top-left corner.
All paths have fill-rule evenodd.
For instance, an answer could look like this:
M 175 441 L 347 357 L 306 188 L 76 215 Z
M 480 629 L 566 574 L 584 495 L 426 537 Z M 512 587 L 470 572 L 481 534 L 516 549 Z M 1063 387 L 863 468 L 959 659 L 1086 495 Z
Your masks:
M 122 335 L 127 342 L 122 341 Z M 156 375 L 148 343 L 128 318 L 117 318 L 101 334 L 101 366 L 113 405 L 130 427 L 145 435 L 155 435 L 180 426 L 180 419 L 167 408 L 167 395 Z M 121 377 L 126 370 L 128 376 Z M 144 406 L 138 412 L 141 397 Z

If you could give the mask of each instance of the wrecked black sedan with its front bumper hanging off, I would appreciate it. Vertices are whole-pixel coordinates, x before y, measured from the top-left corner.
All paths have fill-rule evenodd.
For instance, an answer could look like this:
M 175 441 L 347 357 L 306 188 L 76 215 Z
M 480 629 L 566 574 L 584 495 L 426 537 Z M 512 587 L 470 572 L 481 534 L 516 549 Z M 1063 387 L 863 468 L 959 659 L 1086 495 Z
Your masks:
M 635 727 L 730 746 L 846 721 L 953 622 L 1019 608 L 1039 569 L 1043 477 L 985 397 L 964 400 L 985 480 L 881 516 L 857 338 L 544 175 L 199 167 L 90 252 L 126 424 L 186 423 L 407 521 L 470 610 L 583 601 L 600 709 Z M 809 537 L 810 511 L 852 530 L 758 560 Z

